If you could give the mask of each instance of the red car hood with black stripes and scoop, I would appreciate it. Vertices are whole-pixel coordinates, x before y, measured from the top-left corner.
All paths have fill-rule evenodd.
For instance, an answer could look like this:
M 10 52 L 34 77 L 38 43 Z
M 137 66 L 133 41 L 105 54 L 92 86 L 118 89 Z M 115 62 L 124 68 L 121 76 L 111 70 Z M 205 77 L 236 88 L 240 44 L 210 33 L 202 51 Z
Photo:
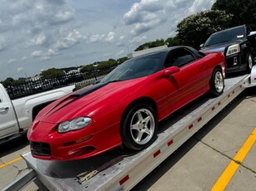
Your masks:
M 143 84 L 147 77 L 99 83 L 75 91 L 45 107 L 36 120 L 60 123 L 81 116 L 91 117 L 103 107 L 117 105 Z

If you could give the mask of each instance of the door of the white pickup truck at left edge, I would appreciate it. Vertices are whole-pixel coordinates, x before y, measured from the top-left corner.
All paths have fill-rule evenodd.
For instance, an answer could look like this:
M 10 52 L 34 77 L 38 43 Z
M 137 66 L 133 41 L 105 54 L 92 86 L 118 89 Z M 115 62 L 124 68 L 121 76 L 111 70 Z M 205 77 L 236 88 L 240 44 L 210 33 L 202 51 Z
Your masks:
M 0 86 L 0 139 L 18 133 L 19 126 L 16 119 L 13 105 Z

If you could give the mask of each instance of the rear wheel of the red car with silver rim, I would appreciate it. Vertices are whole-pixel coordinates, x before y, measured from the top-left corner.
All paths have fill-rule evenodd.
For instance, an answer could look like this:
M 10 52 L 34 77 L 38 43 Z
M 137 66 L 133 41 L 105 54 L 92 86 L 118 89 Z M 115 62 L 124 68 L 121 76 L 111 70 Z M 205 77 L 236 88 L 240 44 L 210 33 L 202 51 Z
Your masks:
M 210 81 L 210 94 L 212 96 L 222 95 L 224 90 L 224 78 L 223 73 L 219 68 L 215 68 L 213 71 L 213 76 Z

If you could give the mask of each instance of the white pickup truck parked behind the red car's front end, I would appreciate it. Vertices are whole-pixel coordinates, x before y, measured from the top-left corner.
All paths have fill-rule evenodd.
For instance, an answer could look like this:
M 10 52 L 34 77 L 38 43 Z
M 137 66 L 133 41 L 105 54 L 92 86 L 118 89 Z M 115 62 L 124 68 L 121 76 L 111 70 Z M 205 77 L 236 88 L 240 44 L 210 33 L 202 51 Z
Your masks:
M 26 133 L 33 119 L 44 106 L 67 95 L 75 86 L 66 86 L 32 96 L 11 100 L 0 84 L 0 143 Z

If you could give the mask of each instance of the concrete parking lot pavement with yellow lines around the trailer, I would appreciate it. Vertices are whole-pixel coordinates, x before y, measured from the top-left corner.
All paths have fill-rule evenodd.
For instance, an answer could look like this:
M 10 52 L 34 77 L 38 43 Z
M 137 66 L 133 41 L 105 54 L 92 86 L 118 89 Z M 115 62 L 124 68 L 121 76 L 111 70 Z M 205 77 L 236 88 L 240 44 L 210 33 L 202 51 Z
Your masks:
M 255 110 L 256 88 L 250 88 L 133 190 L 256 190 Z M 28 170 L 19 156 L 28 149 L 25 138 L 0 146 L 0 189 Z

